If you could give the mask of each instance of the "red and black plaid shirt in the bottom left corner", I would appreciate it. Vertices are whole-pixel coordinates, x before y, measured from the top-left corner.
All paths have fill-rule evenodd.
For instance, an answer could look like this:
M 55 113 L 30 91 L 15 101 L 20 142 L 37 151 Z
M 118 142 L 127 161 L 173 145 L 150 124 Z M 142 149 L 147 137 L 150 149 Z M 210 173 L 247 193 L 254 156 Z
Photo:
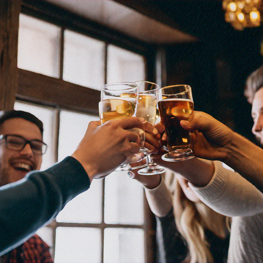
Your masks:
M 21 246 L 3 255 L 0 262 L 53 263 L 53 260 L 49 253 L 49 246 L 38 235 L 33 235 Z

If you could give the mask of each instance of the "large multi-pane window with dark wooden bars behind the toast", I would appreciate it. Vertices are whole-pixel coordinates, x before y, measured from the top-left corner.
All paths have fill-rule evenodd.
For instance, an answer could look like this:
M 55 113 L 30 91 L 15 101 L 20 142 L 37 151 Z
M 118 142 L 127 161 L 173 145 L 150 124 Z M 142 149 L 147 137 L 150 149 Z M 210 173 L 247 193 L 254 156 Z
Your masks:
M 141 54 L 20 15 L 17 66 L 21 76 L 30 76 L 26 84 L 21 77 L 21 93 L 29 86 L 37 92 L 35 97 L 32 92 L 23 95 L 14 108 L 29 111 L 44 123 L 48 152 L 42 169 L 72 154 L 88 123 L 99 119 L 96 99 L 101 86 L 144 80 L 145 62 Z M 37 78 L 42 79 L 35 81 Z M 61 97 L 67 97 L 64 87 L 73 91 L 68 101 L 61 103 Z M 80 102 L 74 96 L 78 92 L 84 106 L 76 110 Z M 114 172 L 106 179 L 93 180 L 87 192 L 70 201 L 57 219 L 38 233 L 52 248 L 55 262 L 144 262 L 148 235 L 144 203 L 143 187 L 126 172 Z

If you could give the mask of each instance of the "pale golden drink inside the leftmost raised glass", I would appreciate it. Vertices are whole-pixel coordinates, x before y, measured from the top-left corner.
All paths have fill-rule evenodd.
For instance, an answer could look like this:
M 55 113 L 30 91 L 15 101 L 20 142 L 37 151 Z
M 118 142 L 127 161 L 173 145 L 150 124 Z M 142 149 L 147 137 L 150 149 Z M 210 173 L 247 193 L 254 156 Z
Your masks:
M 126 101 L 108 99 L 99 102 L 100 119 L 102 123 L 120 117 L 132 117 L 135 114 L 136 100 Z

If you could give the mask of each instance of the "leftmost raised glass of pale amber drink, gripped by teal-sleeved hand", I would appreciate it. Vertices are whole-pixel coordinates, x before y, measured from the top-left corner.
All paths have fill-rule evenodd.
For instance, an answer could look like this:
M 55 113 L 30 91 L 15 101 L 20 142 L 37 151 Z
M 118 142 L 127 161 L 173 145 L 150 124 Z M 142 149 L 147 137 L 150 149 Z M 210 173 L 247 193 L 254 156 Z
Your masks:
M 113 120 L 120 117 L 135 116 L 138 97 L 139 97 L 138 84 L 133 82 L 117 82 L 104 84 L 101 88 L 101 101 L 99 102 L 99 113 L 101 123 Z M 145 142 L 144 125 L 129 129 L 130 132 L 135 132 L 141 139 L 141 149 L 143 152 L 143 145 Z M 130 162 L 138 162 L 138 156 L 131 155 Z M 116 171 L 132 170 L 132 166 L 124 161 Z

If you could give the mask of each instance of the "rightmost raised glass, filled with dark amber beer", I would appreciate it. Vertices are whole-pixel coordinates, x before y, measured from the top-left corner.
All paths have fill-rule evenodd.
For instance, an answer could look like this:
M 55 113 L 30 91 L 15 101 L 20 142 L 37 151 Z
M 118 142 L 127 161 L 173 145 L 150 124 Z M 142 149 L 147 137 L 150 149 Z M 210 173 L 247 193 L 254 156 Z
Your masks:
M 194 110 L 192 90 L 189 85 L 163 87 L 157 92 L 161 122 L 164 126 L 169 152 L 164 161 L 175 162 L 194 157 L 191 133 L 181 127 L 181 120 L 188 120 Z

